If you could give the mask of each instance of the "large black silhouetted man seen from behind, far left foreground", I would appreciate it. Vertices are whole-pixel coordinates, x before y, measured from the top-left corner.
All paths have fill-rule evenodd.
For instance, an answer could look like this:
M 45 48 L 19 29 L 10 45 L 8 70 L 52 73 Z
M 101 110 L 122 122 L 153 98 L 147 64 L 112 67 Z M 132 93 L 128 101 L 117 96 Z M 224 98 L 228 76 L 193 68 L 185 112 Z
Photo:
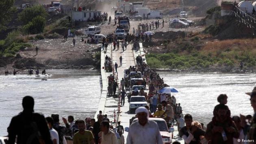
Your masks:
M 46 119 L 34 113 L 34 99 L 26 96 L 22 99 L 23 111 L 11 119 L 8 144 L 52 144 Z

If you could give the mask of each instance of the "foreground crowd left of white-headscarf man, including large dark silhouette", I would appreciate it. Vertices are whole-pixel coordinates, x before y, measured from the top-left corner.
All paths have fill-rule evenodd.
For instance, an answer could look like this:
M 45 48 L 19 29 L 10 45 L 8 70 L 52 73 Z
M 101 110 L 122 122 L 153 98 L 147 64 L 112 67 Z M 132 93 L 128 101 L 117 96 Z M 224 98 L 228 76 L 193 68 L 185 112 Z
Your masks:
M 8 144 L 124 144 L 124 128 L 118 122 L 114 128 L 102 111 L 94 118 L 74 120 L 74 116 L 62 118 L 59 114 L 44 117 L 34 112 L 33 97 L 22 100 L 24 110 L 14 116 L 7 128 Z

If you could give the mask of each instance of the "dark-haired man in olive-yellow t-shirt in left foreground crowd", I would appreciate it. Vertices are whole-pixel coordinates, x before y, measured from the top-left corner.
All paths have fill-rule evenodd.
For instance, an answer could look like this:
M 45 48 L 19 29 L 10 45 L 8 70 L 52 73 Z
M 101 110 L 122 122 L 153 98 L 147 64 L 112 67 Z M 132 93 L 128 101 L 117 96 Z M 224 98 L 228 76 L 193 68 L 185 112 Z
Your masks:
M 79 131 L 74 134 L 73 144 L 95 144 L 91 131 L 85 130 L 85 121 L 77 120 Z

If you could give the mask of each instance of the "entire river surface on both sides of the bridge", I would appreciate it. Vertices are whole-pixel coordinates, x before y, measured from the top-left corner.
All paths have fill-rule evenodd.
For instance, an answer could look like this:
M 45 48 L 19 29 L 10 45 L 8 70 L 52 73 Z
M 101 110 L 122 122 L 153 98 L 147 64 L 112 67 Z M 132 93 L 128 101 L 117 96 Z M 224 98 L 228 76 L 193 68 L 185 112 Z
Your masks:
M 22 98 L 35 98 L 35 112 L 45 116 L 73 115 L 75 119 L 94 116 L 100 98 L 100 73 L 98 71 L 51 70 L 47 81 L 28 75 L 0 75 L 0 136 L 6 135 L 11 117 L 22 111 Z M 159 72 L 165 83 L 180 91 L 176 96 L 184 114 L 194 120 L 209 123 L 217 96 L 228 95 L 232 115 L 253 114 L 250 92 L 256 84 L 255 74 L 168 73 Z

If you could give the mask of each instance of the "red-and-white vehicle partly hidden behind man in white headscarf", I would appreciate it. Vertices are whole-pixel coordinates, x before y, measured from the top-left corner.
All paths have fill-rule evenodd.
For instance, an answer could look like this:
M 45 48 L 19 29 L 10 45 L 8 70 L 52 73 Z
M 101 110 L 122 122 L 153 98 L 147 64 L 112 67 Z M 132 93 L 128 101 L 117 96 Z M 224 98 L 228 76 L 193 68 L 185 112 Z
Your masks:
M 174 128 L 170 127 L 168 129 L 167 124 L 166 124 L 166 122 L 165 122 L 165 120 L 163 118 L 149 118 L 149 120 L 153 120 L 154 122 L 157 123 L 164 144 L 171 144 L 171 133 L 174 132 Z M 130 119 L 130 125 L 132 123 L 135 123 L 136 121 L 138 121 L 138 118 L 136 118 L 136 117 L 131 118 Z M 129 132 L 129 128 L 128 127 L 125 127 L 124 130 L 126 132 Z

